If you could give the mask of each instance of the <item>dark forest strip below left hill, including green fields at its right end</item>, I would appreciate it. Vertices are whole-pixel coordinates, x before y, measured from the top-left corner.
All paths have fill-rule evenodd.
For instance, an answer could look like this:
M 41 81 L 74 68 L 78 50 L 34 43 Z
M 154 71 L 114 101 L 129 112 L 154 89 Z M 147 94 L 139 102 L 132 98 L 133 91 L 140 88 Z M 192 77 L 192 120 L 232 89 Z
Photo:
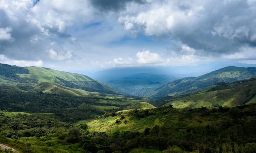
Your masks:
M 20 88 L 24 89 L 21 90 Z M 30 113 L 53 113 L 63 121 L 89 119 L 107 110 L 123 110 L 138 99 L 118 95 L 91 95 L 90 97 L 46 94 L 42 91 L 26 91 L 25 87 L 0 85 L 0 109 Z

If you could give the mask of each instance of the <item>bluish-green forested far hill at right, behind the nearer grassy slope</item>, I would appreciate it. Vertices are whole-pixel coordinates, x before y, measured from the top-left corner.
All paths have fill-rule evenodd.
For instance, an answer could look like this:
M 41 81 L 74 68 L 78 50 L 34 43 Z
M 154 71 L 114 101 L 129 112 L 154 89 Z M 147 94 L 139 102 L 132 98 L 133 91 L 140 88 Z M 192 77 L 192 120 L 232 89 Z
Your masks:
M 199 77 L 188 77 L 173 81 L 156 89 L 152 94 L 148 95 L 156 99 L 160 99 L 166 95 L 179 96 L 196 92 L 205 87 L 211 86 L 217 82 L 234 82 L 256 77 L 256 68 L 254 67 L 225 67 Z

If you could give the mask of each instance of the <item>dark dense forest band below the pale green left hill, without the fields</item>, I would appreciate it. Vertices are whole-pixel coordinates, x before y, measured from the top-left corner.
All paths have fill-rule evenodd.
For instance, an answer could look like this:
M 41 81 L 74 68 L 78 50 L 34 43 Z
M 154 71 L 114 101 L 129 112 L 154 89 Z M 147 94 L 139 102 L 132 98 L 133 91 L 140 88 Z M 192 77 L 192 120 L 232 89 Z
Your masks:
M 81 120 L 103 114 L 92 106 L 96 102 L 97 99 L 87 97 L 23 92 L 12 86 L 0 85 L 0 109 L 3 111 L 55 113 L 66 121 Z

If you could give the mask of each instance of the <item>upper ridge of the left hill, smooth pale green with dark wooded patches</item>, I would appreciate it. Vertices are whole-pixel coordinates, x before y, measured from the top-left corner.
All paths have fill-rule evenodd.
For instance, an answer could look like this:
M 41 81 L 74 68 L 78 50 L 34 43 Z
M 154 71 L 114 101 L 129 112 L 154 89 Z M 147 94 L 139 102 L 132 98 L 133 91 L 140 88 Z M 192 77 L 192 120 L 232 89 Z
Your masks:
M 42 67 L 17 67 L 0 64 L 0 84 L 36 84 L 43 82 L 54 83 L 85 91 L 96 91 L 108 94 L 115 94 L 117 92 L 114 87 L 93 80 L 82 74 L 57 71 Z M 51 89 L 52 86 L 49 87 Z

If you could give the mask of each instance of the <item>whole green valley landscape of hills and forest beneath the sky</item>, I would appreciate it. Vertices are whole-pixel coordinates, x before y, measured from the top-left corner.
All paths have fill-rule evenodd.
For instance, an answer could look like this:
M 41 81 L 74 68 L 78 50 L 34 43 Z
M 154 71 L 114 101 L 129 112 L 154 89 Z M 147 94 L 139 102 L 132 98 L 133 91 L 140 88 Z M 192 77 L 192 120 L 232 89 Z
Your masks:
M 231 66 L 183 79 L 137 73 L 112 86 L 0 64 L 0 143 L 24 153 L 247 153 L 256 146 L 255 77 Z

